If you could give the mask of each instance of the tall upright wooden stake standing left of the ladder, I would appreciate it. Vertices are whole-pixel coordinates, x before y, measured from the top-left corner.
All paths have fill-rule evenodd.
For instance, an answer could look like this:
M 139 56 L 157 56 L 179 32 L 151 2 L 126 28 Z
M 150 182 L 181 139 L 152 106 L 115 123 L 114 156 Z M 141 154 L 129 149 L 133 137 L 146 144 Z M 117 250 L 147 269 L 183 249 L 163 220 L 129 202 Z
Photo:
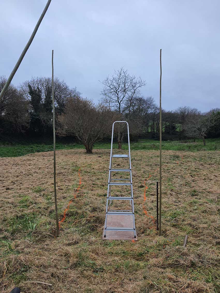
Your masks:
M 56 213 L 57 237 L 59 236 L 59 221 L 57 213 L 57 191 L 56 191 L 56 138 L 55 138 L 55 107 L 54 107 L 54 84 L 53 84 L 53 50 L 52 50 L 52 99 L 53 99 L 53 185 Z

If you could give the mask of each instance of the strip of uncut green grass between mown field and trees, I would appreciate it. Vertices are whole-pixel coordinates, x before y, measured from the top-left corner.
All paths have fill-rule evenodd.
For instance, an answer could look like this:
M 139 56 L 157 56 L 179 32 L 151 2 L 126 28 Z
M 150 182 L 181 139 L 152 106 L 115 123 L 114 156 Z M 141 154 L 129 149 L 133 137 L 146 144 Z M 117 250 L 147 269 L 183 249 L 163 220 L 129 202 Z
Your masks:
M 110 143 L 96 143 L 94 149 L 110 149 Z M 114 144 L 117 148 L 117 144 Z M 128 145 L 123 145 L 124 149 L 128 149 Z M 84 149 L 82 144 L 64 144 L 57 143 L 56 149 Z M 139 139 L 138 142 L 131 142 L 132 150 L 159 150 L 159 141 L 152 139 Z M 220 139 L 206 139 L 206 146 L 203 146 L 202 139 L 196 139 L 196 142 L 189 141 L 166 141 L 162 142 L 163 150 L 172 151 L 216 151 L 220 150 Z M 26 154 L 39 153 L 42 151 L 52 151 L 53 144 L 37 144 L 37 143 L 24 143 L 24 144 L 0 144 L 0 157 L 18 157 Z

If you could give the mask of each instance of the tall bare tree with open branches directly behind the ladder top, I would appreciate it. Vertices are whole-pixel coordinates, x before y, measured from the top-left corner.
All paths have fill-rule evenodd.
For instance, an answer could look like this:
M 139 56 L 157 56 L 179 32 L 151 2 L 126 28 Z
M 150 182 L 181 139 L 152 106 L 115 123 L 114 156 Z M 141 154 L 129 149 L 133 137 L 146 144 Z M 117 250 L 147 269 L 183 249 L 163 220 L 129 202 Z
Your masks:
M 136 75 L 129 74 L 128 70 L 121 67 L 115 70 L 112 76 L 107 76 L 101 81 L 103 89 L 101 91 L 102 101 L 108 106 L 109 110 L 116 111 L 123 119 L 123 115 L 127 113 L 127 120 L 131 115 L 131 108 L 135 98 L 140 96 L 140 88 L 145 86 L 146 82 Z M 123 126 L 124 127 L 124 126 Z M 123 128 L 119 126 L 118 132 L 118 148 L 121 149 L 121 142 L 123 141 Z

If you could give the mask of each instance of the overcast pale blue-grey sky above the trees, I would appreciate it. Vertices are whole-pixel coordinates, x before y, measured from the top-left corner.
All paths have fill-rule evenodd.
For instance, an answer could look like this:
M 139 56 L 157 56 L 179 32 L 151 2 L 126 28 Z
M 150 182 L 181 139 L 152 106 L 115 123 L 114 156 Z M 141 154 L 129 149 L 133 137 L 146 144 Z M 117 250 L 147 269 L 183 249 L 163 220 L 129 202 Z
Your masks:
M 1 0 L 0 75 L 9 76 L 47 0 Z M 147 81 L 144 96 L 162 107 L 220 107 L 219 0 L 52 0 L 13 84 L 55 75 L 83 97 L 100 99 L 101 84 L 124 66 Z

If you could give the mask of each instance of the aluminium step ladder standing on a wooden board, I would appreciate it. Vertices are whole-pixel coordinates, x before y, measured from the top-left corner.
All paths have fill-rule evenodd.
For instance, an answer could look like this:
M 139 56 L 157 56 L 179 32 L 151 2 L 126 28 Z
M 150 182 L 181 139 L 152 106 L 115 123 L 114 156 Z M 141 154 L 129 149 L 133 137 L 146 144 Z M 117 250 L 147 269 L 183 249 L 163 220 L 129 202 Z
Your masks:
M 112 154 L 112 144 L 113 144 L 113 134 L 114 134 L 114 125 L 115 123 L 126 123 L 127 124 L 127 129 L 128 129 L 128 155 L 113 155 Z M 124 169 L 124 168 L 112 168 L 112 158 L 127 158 L 129 160 L 129 168 Z M 112 172 L 126 172 L 129 173 L 129 178 L 128 179 L 114 179 L 112 178 Z M 121 177 L 121 176 L 120 176 Z M 116 181 L 116 182 L 115 182 Z M 120 181 L 126 181 L 126 182 L 120 182 Z M 128 182 L 127 182 L 128 181 Z M 130 186 L 130 194 L 128 196 L 111 196 L 111 186 L 112 185 L 126 185 Z M 110 209 L 110 205 L 112 202 L 115 200 L 128 200 L 130 201 L 131 209 Z M 118 220 L 112 221 L 109 220 L 110 223 L 119 223 L 119 227 L 113 227 L 109 226 L 108 224 L 108 217 L 112 217 L 115 215 L 115 218 L 118 217 Z M 130 221 L 129 221 L 130 219 Z M 121 224 L 121 226 L 120 226 Z M 128 225 L 129 227 L 125 227 Z M 129 126 L 128 122 L 126 121 L 115 121 L 112 125 L 112 135 L 111 135 L 111 154 L 110 154 L 110 164 L 109 164 L 109 181 L 108 181 L 108 191 L 107 191 L 107 201 L 106 201 L 106 216 L 105 216 L 105 225 L 104 225 L 104 238 L 107 239 L 106 237 L 106 232 L 107 231 L 130 231 L 129 232 L 129 237 L 126 237 L 126 233 L 124 234 L 125 238 L 112 238 L 112 239 L 131 239 L 131 238 L 136 238 L 136 228 L 135 228 L 135 220 L 134 220 L 134 199 L 133 199 L 133 186 L 132 186 L 132 175 L 131 175 L 131 151 L 130 151 L 130 139 L 129 139 Z M 132 231 L 132 233 L 131 233 Z M 123 232 L 124 233 L 124 232 Z M 132 235 L 132 236 L 131 236 Z M 111 238 L 110 238 L 111 239 Z

